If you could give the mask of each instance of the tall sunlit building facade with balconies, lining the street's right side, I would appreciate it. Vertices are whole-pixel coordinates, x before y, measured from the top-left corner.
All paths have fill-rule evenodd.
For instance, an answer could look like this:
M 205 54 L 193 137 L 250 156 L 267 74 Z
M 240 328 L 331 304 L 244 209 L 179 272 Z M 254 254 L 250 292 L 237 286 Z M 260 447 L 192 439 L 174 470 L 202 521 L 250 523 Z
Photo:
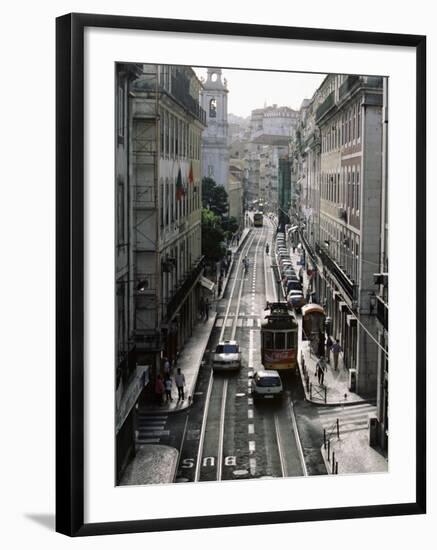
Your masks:
M 370 398 L 378 387 L 373 274 L 381 248 L 382 80 L 327 76 L 301 109 L 293 152 L 293 216 L 313 296 L 343 348 L 351 389 Z

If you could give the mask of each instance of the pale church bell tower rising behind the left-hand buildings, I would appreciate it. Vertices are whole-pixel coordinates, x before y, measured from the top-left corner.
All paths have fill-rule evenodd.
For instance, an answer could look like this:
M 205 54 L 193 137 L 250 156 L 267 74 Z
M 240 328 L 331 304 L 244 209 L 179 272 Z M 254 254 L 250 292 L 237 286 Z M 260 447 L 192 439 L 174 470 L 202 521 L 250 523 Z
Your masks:
M 202 134 L 202 177 L 212 178 L 227 190 L 229 179 L 228 90 L 221 69 L 208 69 L 201 104 L 207 127 Z

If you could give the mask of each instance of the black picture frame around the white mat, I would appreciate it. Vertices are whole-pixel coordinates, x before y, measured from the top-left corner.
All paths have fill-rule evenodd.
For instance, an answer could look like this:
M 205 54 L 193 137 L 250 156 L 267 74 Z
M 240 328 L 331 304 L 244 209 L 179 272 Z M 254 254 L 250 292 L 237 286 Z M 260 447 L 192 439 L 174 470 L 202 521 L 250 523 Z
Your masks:
M 84 29 L 153 30 L 373 44 L 416 52 L 416 499 L 388 505 L 84 523 Z M 367 518 L 426 512 L 426 37 L 68 14 L 56 20 L 56 530 L 69 536 Z

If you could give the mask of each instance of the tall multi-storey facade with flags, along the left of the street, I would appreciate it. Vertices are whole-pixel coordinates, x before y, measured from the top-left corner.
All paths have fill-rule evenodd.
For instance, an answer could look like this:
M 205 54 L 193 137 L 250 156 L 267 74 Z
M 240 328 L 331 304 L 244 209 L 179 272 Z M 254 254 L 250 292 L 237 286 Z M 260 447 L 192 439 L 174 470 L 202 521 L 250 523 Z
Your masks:
M 117 78 L 121 75 L 120 65 Z M 117 285 L 129 304 L 129 324 L 118 315 L 117 342 L 126 332 L 131 364 L 147 366 L 153 382 L 163 358 L 177 357 L 197 321 L 206 115 L 199 103 L 201 82 L 191 68 L 144 64 L 135 76 L 125 103 L 116 106 L 117 117 L 125 109 L 128 134 L 116 157 L 116 217 L 117 227 L 125 228 L 120 239 L 129 256 L 118 275 L 123 273 L 126 284 Z M 125 170 L 129 183 L 123 194 L 118 181 Z M 131 427 L 120 430 L 132 439 Z M 117 465 L 122 469 L 123 461 Z

